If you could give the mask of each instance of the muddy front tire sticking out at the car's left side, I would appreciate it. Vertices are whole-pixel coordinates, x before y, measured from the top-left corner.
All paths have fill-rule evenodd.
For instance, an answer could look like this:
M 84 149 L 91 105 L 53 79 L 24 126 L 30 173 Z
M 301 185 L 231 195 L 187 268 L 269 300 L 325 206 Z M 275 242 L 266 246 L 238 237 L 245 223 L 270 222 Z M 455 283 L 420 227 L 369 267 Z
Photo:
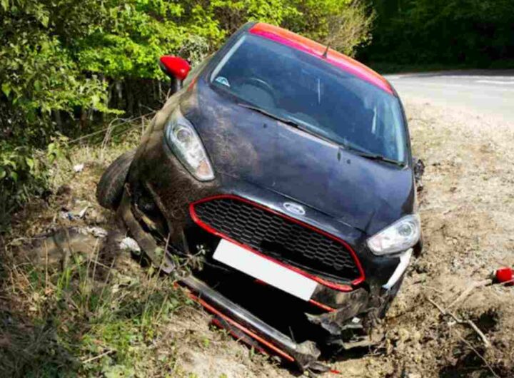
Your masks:
M 96 200 L 102 207 L 113 210 L 118 207 L 134 155 L 135 149 L 120 155 L 101 176 L 96 185 Z

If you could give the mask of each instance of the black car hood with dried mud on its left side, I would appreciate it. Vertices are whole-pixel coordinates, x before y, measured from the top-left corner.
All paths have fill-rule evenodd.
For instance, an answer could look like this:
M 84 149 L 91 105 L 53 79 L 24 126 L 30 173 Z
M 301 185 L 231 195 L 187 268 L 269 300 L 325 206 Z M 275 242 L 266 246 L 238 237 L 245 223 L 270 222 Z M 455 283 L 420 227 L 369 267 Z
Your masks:
M 410 168 L 362 158 L 243 108 L 206 83 L 196 87 L 181 110 L 217 173 L 273 190 L 368 235 L 413 212 Z

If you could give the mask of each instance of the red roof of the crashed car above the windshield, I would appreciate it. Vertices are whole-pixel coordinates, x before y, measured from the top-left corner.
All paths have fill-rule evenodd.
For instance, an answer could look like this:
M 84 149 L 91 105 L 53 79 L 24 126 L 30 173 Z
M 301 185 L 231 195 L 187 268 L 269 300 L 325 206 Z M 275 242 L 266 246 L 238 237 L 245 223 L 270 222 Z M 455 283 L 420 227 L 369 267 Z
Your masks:
M 278 26 L 266 24 L 264 22 L 258 22 L 257 24 L 253 25 L 248 30 L 248 32 L 257 36 L 262 36 L 266 39 L 271 39 L 272 41 L 276 41 L 279 44 L 284 44 L 292 48 L 296 48 L 313 56 L 318 56 L 320 59 L 331 63 L 333 66 L 337 66 L 343 71 L 368 81 L 368 83 L 372 83 L 374 86 L 381 88 L 383 91 L 393 95 L 395 94 L 393 88 L 390 86 L 390 83 L 385 80 L 385 78 L 379 73 L 376 73 L 371 68 L 364 66 L 363 63 L 360 63 L 355 59 L 344 55 L 343 53 L 339 53 L 332 48 L 328 48 L 327 51 L 327 46 L 318 44 L 318 42 L 315 42 L 312 39 L 308 39 L 304 36 L 293 33 L 292 31 L 288 31 Z

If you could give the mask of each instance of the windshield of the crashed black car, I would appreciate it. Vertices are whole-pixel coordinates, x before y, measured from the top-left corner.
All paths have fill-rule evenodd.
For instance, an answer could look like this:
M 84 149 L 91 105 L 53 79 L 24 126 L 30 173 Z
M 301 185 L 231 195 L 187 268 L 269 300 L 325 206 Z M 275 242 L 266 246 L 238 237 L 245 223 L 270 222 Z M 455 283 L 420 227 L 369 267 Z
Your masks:
M 319 57 L 244 34 L 210 80 L 241 102 L 321 138 L 405 163 L 398 98 Z

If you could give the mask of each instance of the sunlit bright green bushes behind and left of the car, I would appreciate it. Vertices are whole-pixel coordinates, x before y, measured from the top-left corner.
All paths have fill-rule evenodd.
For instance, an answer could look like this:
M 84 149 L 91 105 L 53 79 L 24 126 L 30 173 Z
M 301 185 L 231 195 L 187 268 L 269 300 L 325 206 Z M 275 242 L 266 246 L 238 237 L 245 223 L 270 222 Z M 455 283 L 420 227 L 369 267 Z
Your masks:
M 0 226 L 49 194 L 69 138 L 161 105 L 159 56 L 198 62 L 248 20 L 353 54 L 371 17 L 350 0 L 1 0 Z

